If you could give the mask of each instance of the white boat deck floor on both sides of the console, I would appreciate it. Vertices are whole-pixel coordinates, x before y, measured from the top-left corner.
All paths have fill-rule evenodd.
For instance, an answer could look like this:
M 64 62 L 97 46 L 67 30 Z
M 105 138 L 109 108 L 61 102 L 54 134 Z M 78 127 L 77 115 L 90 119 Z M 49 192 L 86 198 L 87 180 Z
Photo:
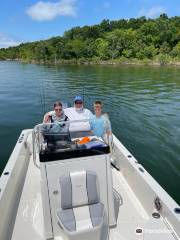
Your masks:
M 112 169 L 117 226 L 110 229 L 110 240 L 174 240 L 163 218 L 148 216 L 145 209 L 128 186 L 120 171 Z M 32 157 L 18 207 L 12 240 L 45 240 L 43 235 L 43 209 L 41 175 Z M 136 229 L 143 233 L 137 234 Z M 63 240 L 61 237 L 56 240 Z

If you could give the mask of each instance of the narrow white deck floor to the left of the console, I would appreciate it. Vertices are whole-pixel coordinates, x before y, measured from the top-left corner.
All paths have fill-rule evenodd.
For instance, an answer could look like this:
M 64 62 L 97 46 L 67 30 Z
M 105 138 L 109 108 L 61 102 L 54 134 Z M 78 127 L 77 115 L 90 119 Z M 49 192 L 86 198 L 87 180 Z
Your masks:
M 40 170 L 35 167 L 31 157 L 12 240 L 42 240 L 43 232 Z

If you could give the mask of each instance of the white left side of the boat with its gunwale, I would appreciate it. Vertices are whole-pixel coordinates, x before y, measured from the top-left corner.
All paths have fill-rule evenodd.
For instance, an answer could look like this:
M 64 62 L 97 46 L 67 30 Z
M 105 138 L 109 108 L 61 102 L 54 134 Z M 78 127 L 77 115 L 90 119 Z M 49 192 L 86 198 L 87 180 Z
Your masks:
M 27 138 L 31 129 L 23 130 L 0 177 L 0 236 L 9 240 L 13 232 L 16 214 L 29 165 Z M 26 152 L 26 154 L 23 154 Z M 22 157 L 23 156 L 23 157 Z M 8 174 L 7 174 L 8 173 Z M 13 197 L 13 198 L 12 198 Z M 5 204 L 6 203 L 6 204 Z

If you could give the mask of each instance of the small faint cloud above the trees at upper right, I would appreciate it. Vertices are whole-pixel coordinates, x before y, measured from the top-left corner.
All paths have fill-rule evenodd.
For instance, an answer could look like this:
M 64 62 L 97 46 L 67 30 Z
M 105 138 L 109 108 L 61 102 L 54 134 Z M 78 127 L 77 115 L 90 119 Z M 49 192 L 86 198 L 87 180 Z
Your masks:
M 146 16 L 148 18 L 155 18 L 158 17 L 160 14 L 165 13 L 166 9 L 162 6 L 156 6 L 156 7 L 152 7 L 150 9 L 144 9 L 142 8 L 139 11 L 139 16 Z

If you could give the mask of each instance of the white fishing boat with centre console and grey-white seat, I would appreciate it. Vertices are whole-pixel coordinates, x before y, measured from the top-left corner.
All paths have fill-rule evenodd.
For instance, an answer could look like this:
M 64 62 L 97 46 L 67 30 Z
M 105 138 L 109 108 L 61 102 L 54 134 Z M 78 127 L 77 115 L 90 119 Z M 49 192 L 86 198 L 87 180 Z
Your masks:
M 115 136 L 50 128 L 23 130 L 2 173 L 1 240 L 179 239 L 180 206 Z

